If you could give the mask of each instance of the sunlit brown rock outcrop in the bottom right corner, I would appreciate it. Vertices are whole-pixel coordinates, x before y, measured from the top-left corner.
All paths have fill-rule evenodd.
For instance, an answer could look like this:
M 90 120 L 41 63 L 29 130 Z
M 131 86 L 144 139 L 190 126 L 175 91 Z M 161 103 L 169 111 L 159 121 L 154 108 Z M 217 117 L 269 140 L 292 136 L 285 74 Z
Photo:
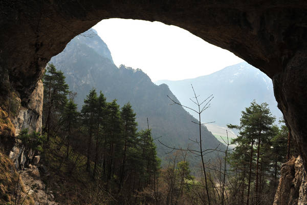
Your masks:
M 300 156 L 292 157 L 281 167 L 274 203 L 277 205 L 307 204 L 307 178 Z

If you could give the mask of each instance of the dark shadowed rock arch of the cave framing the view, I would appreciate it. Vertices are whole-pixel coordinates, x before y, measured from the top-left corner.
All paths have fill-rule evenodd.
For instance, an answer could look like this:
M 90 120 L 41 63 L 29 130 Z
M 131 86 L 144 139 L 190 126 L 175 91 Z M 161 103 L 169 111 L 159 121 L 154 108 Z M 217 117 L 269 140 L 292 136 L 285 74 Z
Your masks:
M 157 20 L 227 49 L 271 77 L 278 107 L 307 162 L 306 1 L 4 0 L 0 15 L 1 106 L 14 92 L 24 108 L 40 115 L 31 96 L 39 93 L 43 68 L 101 19 Z

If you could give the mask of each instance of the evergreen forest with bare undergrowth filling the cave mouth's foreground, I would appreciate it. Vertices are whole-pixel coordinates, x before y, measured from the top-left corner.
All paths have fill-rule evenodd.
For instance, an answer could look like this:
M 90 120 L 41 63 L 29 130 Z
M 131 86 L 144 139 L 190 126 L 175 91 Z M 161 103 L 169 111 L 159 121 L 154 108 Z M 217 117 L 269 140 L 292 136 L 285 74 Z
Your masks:
M 276 125 L 268 104 L 254 100 L 239 125 L 228 125 L 239 134 L 225 149 L 202 147 L 199 119 L 196 146 L 164 145 L 162 165 L 159 136 L 148 119 L 138 129 L 129 102 L 120 107 L 93 88 L 79 111 L 78 94 L 53 64 L 43 85 L 42 133 L 23 130 L 19 139 L 40 154 L 41 178 L 59 204 L 272 204 L 282 163 L 297 155 L 284 122 Z M 193 171 L 189 157 L 198 161 Z

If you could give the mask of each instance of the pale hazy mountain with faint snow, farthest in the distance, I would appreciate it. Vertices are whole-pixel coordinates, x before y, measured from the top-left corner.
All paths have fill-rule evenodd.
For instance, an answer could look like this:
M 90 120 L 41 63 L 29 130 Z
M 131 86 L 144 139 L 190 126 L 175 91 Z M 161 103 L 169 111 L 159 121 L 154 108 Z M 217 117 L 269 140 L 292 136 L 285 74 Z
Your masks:
M 156 84 L 167 84 L 181 103 L 188 106 L 193 106 L 189 100 L 193 96 L 191 84 L 203 98 L 213 94 L 211 107 L 205 111 L 203 119 L 216 121 L 216 125 L 239 124 L 241 111 L 249 107 L 253 99 L 257 103 L 268 103 L 272 114 L 277 119 L 282 117 L 274 97 L 272 80 L 247 63 L 193 79 L 159 80 Z

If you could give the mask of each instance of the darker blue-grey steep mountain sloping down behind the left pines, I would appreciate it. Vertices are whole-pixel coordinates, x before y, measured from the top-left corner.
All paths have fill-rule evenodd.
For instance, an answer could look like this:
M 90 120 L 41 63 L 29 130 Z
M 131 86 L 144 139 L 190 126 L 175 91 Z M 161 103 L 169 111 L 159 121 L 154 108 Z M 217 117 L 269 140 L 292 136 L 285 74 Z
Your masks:
M 107 101 L 118 100 L 123 106 L 130 102 L 137 113 L 139 129 L 147 128 L 146 118 L 152 129 L 153 138 L 160 138 L 165 144 L 176 147 L 187 147 L 191 140 L 198 136 L 198 127 L 191 121 L 196 121 L 192 115 L 182 107 L 169 105 L 167 98 L 178 100 L 168 86 L 157 86 L 140 69 L 116 67 L 107 46 L 95 35 L 91 29 L 76 36 L 67 47 L 51 59 L 58 70 L 66 76 L 66 81 L 73 92 L 79 109 L 83 99 L 92 88 L 100 90 L 107 97 Z M 206 127 L 202 127 L 204 149 L 215 148 L 221 144 Z M 165 152 L 170 150 L 159 144 L 158 156 L 164 158 Z M 220 146 L 224 149 L 224 146 Z

